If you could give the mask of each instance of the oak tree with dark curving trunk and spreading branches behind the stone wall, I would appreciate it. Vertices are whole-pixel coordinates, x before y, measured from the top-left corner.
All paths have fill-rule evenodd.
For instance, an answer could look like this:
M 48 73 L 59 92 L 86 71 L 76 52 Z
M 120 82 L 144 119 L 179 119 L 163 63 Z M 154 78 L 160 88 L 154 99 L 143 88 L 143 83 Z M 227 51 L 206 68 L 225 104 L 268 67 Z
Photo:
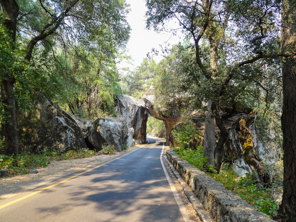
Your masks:
M 215 168 L 219 171 L 223 145 L 228 137 L 220 115 L 221 107 L 231 108 L 233 98 L 247 87 L 244 82 L 250 84 L 254 78 L 260 79 L 252 68 L 256 67 L 256 71 L 263 69 L 264 64 L 272 62 L 266 58 L 277 54 L 277 5 L 274 2 L 266 4 L 266 1 L 231 0 L 146 2 L 147 28 L 174 32 L 166 29 L 165 22 L 175 20 L 184 36 L 193 43 L 195 64 L 205 78 L 199 79 L 206 91 L 204 99 L 209 102 L 208 111 L 213 113 L 220 129 L 218 143 L 214 147 L 205 147 L 213 153 Z M 208 56 L 203 56 L 204 45 L 209 46 Z

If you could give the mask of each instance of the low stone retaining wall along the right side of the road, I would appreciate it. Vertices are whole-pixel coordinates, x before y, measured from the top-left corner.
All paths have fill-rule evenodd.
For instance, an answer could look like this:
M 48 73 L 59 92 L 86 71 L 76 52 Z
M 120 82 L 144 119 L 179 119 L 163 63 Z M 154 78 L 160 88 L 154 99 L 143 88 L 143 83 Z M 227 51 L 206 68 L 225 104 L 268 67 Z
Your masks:
M 180 158 L 172 149 L 168 150 L 166 155 L 214 221 L 275 222 L 268 215 L 255 210 L 254 206 L 227 190 L 222 184 Z

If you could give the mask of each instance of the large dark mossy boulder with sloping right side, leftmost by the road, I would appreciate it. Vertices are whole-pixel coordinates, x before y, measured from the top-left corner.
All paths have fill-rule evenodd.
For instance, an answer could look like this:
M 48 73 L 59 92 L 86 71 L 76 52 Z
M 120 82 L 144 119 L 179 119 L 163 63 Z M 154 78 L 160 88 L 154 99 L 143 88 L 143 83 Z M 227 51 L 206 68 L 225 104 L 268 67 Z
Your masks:
M 22 149 L 39 152 L 40 149 L 56 150 L 58 153 L 86 148 L 83 133 L 75 120 L 43 94 L 37 94 L 34 111 L 22 113 Z

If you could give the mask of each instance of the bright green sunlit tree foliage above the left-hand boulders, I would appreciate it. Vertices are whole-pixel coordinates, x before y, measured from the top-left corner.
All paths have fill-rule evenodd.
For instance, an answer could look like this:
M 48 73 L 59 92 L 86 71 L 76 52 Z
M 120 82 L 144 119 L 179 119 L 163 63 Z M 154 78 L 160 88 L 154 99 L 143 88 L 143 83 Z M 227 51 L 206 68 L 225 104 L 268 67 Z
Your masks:
M 54 102 L 85 119 L 114 115 L 115 97 L 122 93 L 115 60 L 104 58 L 102 61 L 83 47 L 70 56 L 73 58 L 73 63 L 69 63 L 72 81 L 69 84 L 65 79 L 64 87 L 68 90 L 63 91 L 64 96 L 56 94 Z

